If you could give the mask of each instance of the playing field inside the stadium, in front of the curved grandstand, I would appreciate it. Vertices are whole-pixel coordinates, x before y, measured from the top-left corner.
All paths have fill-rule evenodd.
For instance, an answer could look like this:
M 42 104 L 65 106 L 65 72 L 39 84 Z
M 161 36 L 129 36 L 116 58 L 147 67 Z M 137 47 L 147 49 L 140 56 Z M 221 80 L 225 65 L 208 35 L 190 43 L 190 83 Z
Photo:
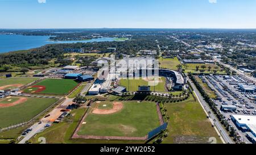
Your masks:
M 150 90 L 151 91 L 157 91 L 157 92 L 165 92 L 165 83 L 166 83 L 166 78 L 160 77 L 159 78 L 159 83 L 156 86 L 151 86 Z M 144 79 L 121 79 L 119 82 L 119 85 L 125 86 L 127 91 L 138 91 L 139 86 L 148 86 L 148 81 Z M 129 86 L 130 85 L 130 86 Z

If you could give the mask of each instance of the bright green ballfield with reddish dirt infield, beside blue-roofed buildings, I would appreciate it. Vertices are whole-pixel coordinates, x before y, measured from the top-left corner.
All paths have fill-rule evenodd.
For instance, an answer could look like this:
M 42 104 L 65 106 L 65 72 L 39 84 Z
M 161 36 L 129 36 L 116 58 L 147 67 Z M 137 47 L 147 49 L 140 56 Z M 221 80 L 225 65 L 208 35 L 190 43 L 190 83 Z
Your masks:
M 24 93 L 65 95 L 77 86 L 72 79 L 44 79 L 31 87 L 27 87 Z

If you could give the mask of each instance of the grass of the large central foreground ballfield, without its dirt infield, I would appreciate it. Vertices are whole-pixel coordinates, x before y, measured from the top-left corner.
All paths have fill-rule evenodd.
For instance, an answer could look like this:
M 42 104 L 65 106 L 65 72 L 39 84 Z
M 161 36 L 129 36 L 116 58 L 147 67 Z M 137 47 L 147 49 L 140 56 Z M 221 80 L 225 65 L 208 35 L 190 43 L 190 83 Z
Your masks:
M 109 102 L 101 102 L 103 104 Z M 144 137 L 160 125 L 156 104 L 153 102 L 125 101 L 117 104 L 122 104 L 122 109 L 109 115 L 93 114 L 93 109 L 88 111 L 78 135 Z M 97 104 L 94 105 L 97 109 Z

